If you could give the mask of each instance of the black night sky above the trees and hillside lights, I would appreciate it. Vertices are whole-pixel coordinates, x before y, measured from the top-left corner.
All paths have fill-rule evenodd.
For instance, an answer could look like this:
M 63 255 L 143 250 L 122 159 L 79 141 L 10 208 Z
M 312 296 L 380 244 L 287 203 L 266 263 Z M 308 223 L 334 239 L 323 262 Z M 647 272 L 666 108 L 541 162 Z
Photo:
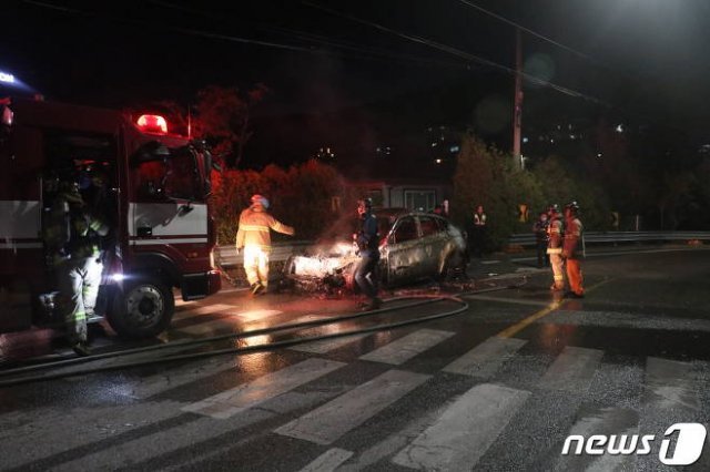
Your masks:
M 565 116 L 592 103 L 710 140 L 706 0 L 11 0 L 2 10 L 0 70 L 47 99 L 186 104 L 209 84 L 265 83 L 254 152 L 260 135 L 290 140 L 295 123 L 321 142 L 347 135 L 327 123 L 353 127 L 355 157 L 407 129 L 495 115 L 513 95 L 509 22 L 531 31 L 526 71 L 548 82 L 525 85 L 524 133 L 546 103 Z M 508 133 L 505 117 L 478 125 Z

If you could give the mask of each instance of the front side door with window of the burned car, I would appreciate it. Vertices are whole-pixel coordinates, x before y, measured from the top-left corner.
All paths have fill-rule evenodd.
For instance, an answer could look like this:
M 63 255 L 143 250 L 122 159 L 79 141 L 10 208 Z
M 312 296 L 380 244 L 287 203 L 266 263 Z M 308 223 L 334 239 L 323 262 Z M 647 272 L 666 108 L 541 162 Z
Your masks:
M 422 277 L 424 252 L 414 216 L 399 218 L 387 240 L 387 268 L 390 284 L 403 284 Z

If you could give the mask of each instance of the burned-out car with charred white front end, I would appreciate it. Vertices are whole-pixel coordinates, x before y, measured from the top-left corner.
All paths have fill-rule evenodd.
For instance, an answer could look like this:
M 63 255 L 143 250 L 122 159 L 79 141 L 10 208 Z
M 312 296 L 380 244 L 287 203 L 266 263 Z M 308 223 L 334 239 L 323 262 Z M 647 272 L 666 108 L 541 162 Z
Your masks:
M 402 208 L 374 214 L 381 237 L 379 274 L 385 286 L 465 274 L 466 235 L 448 219 Z M 284 266 L 284 276 L 287 283 L 308 290 L 354 289 L 358 260 L 352 232 L 342 232 L 338 242 L 321 243 L 292 256 Z

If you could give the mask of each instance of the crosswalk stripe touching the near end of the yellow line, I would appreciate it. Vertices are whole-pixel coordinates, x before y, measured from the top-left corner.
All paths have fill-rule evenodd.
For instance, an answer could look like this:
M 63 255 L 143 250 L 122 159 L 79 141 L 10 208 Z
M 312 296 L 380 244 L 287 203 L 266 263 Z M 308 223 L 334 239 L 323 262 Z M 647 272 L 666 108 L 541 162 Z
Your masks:
M 500 366 L 511 358 L 526 342 L 516 338 L 488 338 L 443 370 L 464 376 L 493 377 Z

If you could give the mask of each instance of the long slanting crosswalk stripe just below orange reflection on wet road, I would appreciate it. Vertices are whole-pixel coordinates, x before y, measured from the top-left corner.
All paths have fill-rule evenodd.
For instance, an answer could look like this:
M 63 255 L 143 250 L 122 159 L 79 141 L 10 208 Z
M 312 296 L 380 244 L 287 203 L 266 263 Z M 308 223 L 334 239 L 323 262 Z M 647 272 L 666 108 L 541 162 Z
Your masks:
M 304 360 L 267 373 L 252 382 L 183 407 L 182 410 L 224 420 L 343 366 L 345 363 L 326 359 Z

